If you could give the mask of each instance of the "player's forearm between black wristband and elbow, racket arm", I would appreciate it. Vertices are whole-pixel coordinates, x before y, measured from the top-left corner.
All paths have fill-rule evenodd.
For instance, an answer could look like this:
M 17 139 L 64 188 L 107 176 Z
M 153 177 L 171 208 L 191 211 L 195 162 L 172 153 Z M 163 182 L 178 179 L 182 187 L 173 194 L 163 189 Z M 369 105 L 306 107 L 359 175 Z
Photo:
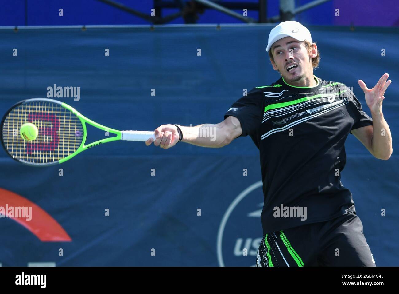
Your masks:
M 216 124 L 199 124 L 198 126 L 180 126 L 183 142 L 201 147 L 223 147 L 229 144 L 228 135 Z

